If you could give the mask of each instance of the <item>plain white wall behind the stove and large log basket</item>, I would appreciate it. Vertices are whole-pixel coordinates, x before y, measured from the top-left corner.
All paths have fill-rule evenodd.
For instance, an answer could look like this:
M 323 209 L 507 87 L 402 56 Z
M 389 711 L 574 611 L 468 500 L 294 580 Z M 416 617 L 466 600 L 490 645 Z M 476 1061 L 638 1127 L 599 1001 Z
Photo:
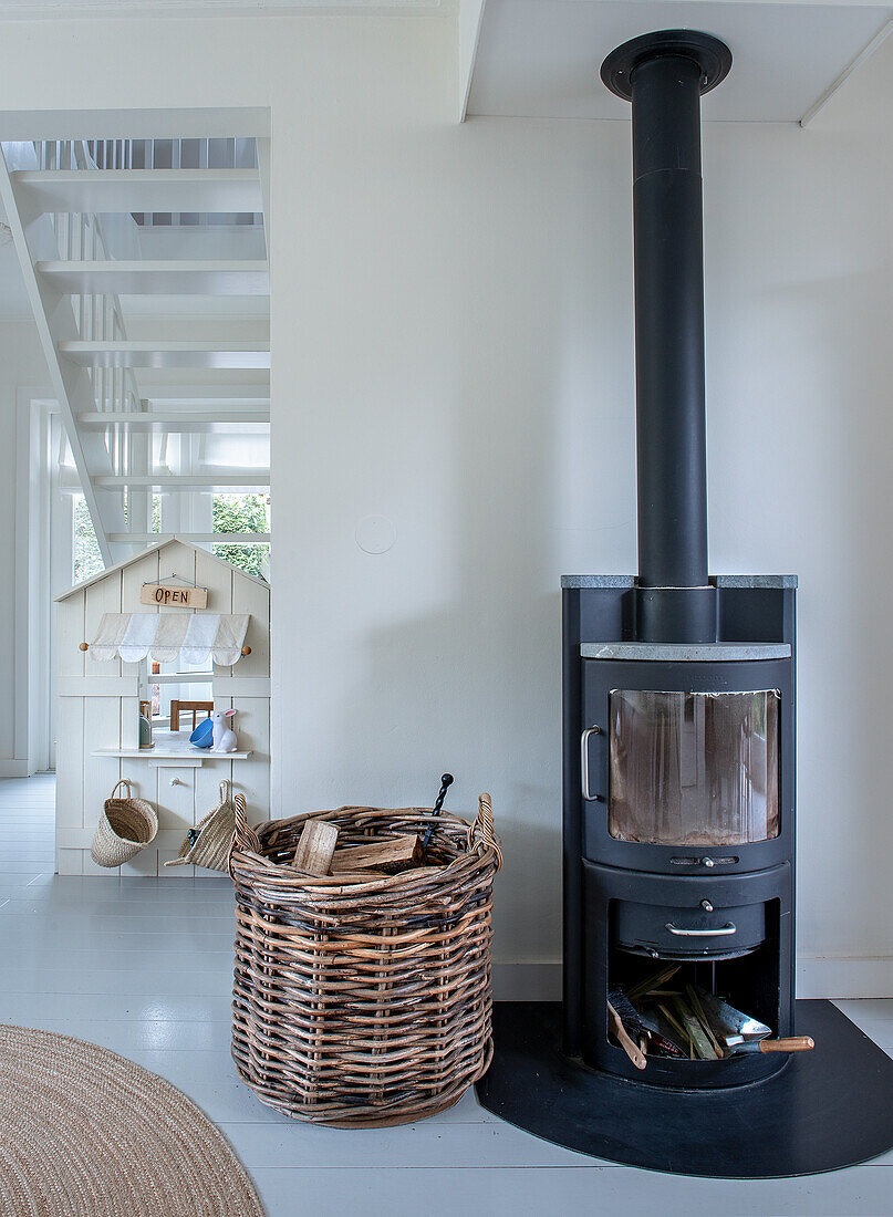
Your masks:
M 10 23 L 0 111 L 271 107 L 274 814 L 489 789 L 499 958 L 549 965 L 558 578 L 635 560 L 628 128 L 453 125 L 440 16 L 174 24 Z M 893 992 L 892 69 L 704 139 L 712 566 L 802 581 L 810 992 Z

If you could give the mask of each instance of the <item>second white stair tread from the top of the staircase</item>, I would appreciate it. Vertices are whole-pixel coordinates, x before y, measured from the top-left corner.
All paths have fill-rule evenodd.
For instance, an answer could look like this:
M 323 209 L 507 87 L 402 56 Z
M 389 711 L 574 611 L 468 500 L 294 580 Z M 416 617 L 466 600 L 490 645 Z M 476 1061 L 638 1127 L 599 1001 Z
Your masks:
M 269 296 L 265 262 L 39 262 L 38 274 L 63 292 L 118 296 Z

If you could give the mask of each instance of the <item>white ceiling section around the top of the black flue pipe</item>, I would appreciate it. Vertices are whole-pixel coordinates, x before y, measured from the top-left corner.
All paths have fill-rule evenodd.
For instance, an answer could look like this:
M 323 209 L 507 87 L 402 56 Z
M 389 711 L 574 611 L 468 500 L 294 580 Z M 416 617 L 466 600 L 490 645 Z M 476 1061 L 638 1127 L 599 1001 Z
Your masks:
M 652 29 L 702 29 L 732 52 L 707 122 L 797 122 L 893 19 L 893 4 L 745 0 L 485 0 L 470 114 L 629 119 L 599 79 L 605 56 Z

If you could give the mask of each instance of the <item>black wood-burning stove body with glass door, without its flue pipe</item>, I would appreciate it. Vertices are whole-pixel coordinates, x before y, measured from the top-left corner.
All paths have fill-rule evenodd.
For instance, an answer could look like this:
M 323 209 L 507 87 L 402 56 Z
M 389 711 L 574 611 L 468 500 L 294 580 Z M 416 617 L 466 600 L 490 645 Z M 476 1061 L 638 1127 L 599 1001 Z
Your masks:
M 642 1077 L 607 994 L 674 960 L 793 1033 L 794 581 L 717 578 L 714 636 L 681 644 L 641 636 L 634 579 L 563 582 L 566 1051 L 653 1084 L 765 1077 L 786 1058 Z

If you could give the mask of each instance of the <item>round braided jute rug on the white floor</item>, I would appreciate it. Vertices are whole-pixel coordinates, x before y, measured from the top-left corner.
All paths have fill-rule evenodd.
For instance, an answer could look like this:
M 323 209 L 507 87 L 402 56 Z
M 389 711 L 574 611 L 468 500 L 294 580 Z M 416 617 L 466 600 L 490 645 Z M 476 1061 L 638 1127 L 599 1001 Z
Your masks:
M 0 1025 L 4 1217 L 264 1217 L 198 1107 L 96 1044 Z

